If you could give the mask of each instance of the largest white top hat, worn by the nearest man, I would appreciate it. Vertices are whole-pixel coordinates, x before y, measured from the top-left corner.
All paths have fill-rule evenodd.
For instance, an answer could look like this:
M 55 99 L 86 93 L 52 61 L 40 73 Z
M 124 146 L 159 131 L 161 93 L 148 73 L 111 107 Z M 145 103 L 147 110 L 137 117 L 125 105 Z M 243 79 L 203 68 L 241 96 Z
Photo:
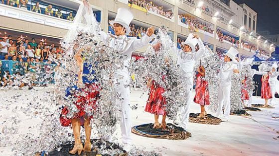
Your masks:
M 129 35 L 131 32 L 130 23 L 134 19 L 133 13 L 127 8 L 119 8 L 117 10 L 117 15 L 115 20 L 110 21 L 110 24 L 114 25 L 114 23 L 121 24 L 126 29 L 126 35 Z

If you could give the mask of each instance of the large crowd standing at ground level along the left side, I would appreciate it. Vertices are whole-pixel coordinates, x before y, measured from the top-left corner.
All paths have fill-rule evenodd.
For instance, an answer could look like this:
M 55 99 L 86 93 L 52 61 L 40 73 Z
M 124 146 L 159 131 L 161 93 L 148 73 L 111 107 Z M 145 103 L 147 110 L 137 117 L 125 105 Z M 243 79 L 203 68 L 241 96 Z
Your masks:
M 59 64 L 62 53 L 60 46 L 46 45 L 43 40 L 36 43 L 32 38 L 29 42 L 28 38 L 22 36 L 12 40 L 11 35 L 0 39 L 0 57 L 4 56 L 0 60 L 0 86 L 15 85 L 16 77 L 26 74 L 29 74 L 32 81 L 38 80 L 35 75 L 44 78 L 42 74 L 53 73 L 49 69 L 52 67 L 50 64 Z

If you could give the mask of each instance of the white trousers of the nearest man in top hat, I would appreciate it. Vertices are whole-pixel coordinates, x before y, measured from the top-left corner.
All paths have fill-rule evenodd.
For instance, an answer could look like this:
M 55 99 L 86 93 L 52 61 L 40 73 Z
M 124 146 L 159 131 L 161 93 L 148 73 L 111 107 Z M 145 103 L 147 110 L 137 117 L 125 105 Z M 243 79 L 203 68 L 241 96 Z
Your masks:
M 120 105 L 121 109 L 121 119 L 120 119 L 120 128 L 122 133 L 122 142 L 123 144 L 132 144 L 131 138 L 131 110 L 130 110 L 130 77 L 129 73 L 126 73 L 126 76 L 117 75 L 118 83 L 115 83 L 115 89 L 119 95 L 119 98 L 116 99 L 116 104 Z

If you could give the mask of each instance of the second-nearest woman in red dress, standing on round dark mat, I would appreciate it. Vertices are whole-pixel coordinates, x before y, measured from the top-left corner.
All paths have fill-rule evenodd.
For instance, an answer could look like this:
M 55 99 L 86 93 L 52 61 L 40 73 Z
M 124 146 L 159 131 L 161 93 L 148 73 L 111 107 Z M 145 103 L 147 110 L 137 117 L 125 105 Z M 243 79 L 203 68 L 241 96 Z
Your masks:
M 150 86 L 151 83 L 151 86 Z M 145 111 L 154 114 L 154 126 L 153 128 L 166 128 L 166 111 L 165 111 L 165 97 L 162 94 L 165 92 L 163 87 L 160 87 L 158 83 L 154 80 L 149 80 L 148 84 L 150 86 L 150 93 L 148 97 L 148 101 L 145 106 Z M 161 125 L 158 121 L 159 115 L 162 115 Z

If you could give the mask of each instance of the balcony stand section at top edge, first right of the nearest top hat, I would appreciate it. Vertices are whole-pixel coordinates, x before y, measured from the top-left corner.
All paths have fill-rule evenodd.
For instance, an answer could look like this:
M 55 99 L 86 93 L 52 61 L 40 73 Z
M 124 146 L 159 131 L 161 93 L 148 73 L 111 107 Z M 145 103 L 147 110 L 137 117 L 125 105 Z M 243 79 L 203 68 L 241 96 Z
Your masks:
M 174 22 L 174 6 L 162 0 L 128 0 L 128 6 Z

